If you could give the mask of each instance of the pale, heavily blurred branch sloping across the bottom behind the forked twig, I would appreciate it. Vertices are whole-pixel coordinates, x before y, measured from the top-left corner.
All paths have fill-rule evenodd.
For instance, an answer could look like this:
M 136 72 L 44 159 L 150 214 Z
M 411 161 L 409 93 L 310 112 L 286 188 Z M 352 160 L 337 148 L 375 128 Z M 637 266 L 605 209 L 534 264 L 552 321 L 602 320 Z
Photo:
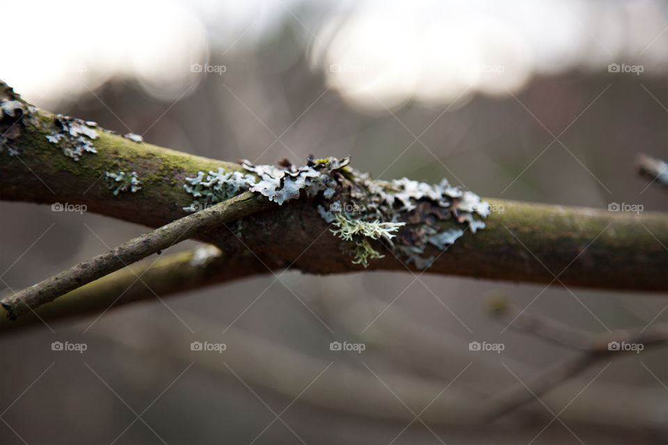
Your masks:
M 420 414 L 420 419 L 429 425 L 481 428 L 485 393 L 498 390 L 498 387 L 489 387 L 485 393 L 476 393 L 462 385 L 461 379 L 457 379 L 443 391 L 461 369 L 451 369 L 440 378 L 390 373 L 381 371 L 383 366 L 367 356 L 364 357 L 364 362 L 345 364 L 337 360 L 333 363 L 325 357 L 301 353 L 237 327 L 228 327 L 225 333 L 221 334 L 222 328 L 216 323 L 199 318 L 196 324 L 198 338 L 226 341 L 228 347 L 223 355 L 193 353 L 189 348 L 191 337 L 180 330 L 161 328 L 158 325 L 132 325 L 129 327 L 132 334 L 124 334 L 124 330 L 116 328 L 97 329 L 91 333 L 104 337 L 125 350 L 133 351 L 136 359 L 177 362 L 180 365 L 195 362 L 200 370 L 216 377 L 230 375 L 235 381 L 240 377 L 247 385 L 264 387 L 290 401 L 299 396 L 300 402 L 369 419 L 413 421 L 413 412 L 417 414 L 429 406 Z M 138 342 L 136 338 L 143 341 Z M 327 344 L 324 343 L 322 348 L 326 350 Z M 363 363 L 367 364 L 377 377 Z M 514 366 L 517 366 L 519 372 L 532 372 L 519 364 Z M 487 375 L 498 371 L 493 364 L 477 359 L 475 364 L 467 369 L 466 374 L 475 367 Z M 304 382 L 310 382 L 324 369 L 326 371 L 317 382 L 299 395 L 303 391 Z M 507 372 L 504 374 L 509 375 Z M 578 383 L 584 385 L 582 382 Z M 392 391 L 388 390 L 388 387 Z M 628 404 L 620 407 L 619 404 L 612 403 L 613 394 L 615 398 L 624 398 Z M 397 397 L 413 412 L 399 402 Z M 665 406 L 665 398 L 646 389 L 629 389 L 621 385 L 595 382 L 587 389 L 587 394 L 582 394 L 574 401 L 571 399 L 568 391 L 563 391 L 562 394 L 546 396 L 544 401 L 552 410 L 572 402 L 568 410 L 560 415 L 570 426 L 589 424 L 643 430 L 665 428 L 665 420 L 658 420 L 653 412 L 655 407 Z M 596 416 L 591 416 L 591 412 L 596 412 Z M 534 420 L 550 419 L 550 413 L 542 405 L 526 407 L 526 414 L 530 414 Z

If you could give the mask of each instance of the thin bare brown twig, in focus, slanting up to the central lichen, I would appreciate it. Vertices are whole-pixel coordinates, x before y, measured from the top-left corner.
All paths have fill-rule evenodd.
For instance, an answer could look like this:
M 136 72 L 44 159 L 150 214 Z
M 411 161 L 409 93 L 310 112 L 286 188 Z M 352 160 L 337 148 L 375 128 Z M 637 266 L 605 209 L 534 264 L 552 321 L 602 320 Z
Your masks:
M 13 320 L 84 284 L 190 238 L 199 231 L 230 223 L 274 205 L 276 204 L 269 202 L 262 195 L 241 193 L 205 210 L 168 223 L 148 234 L 137 236 L 97 257 L 82 261 L 53 277 L 3 298 L 0 300 L 0 305 Z

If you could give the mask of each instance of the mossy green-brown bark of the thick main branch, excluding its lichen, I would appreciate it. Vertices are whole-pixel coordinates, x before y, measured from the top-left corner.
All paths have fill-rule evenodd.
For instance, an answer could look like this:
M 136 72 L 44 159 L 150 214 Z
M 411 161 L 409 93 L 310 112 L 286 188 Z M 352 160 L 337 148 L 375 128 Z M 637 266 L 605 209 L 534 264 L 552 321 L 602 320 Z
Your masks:
M 19 100 L 0 86 L 5 104 Z M 74 161 L 47 140 L 58 130 L 56 116 L 34 108 L 25 113 L 31 118 L 17 110 L 0 120 L 0 134 L 9 135 L 0 152 L 2 200 L 86 204 L 88 211 L 159 227 L 186 215 L 182 208 L 192 196 L 183 189 L 185 177 L 218 168 L 242 171 L 239 164 L 135 143 L 102 129 L 94 141 L 97 153 L 84 153 Z M 8 147 L 15 154 L 10 156 Z M 112 169 L 136 171 L 141 190 L 113 195 L 104 181 L 105 172 Z M 668 289 L 668 218 L 663 213 L 488 201 L 504 211 L 492 213 L 485 229 L 475 235 L 467 232 L 443 254 L 428 248 L 425 253 L 437 257 L 428 272 L 544 284 L 557 275 L 555 284 L 566 286 Z M 351 264 L 342 251 L 344 242 L 328 231 L 313 200 L 290 201 L 233 226 L 199 232 L 196 238 L 218 245 L 230 260 L 246 256 L 250 249 L 271 269 L 292 265 L 308 273 L 363 270 Z M 380 243 L 374 242 L 374 247 L 385 257 L 371 261 L 369 269 L 417 271 Z

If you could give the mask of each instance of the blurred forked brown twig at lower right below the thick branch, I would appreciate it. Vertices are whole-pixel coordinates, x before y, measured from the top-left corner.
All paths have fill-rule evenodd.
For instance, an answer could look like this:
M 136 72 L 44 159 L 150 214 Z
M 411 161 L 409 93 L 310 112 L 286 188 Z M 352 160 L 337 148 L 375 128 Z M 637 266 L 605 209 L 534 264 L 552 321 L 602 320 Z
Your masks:
M 509 326 L 514 329 L 529 332 L 568 348 L 582 350 L 582 353 L 574 359 L 556 364 L 536 378 L 527 380 L 523 385 L 493 396 L 488 401 L 485 410 L 485 417 L 488 420 L 498 419 L 525 403 L 534 401 L 535 398 L 546 394 L 557 385 L 586 371 L 603 359 L 637 353 L 638 349 L 645 350 L 668 345 L 668 323 L 653 325 L 640 332 L 614 330 L 605 334 L 591 334 L 545 316 L 528 311 L 520 312 L 517 307 L 502 300 L 501 296 L 494 297 L 491 308 L 492 314 L 498 316 L 500 320 L 506 323 L 512 322 Z

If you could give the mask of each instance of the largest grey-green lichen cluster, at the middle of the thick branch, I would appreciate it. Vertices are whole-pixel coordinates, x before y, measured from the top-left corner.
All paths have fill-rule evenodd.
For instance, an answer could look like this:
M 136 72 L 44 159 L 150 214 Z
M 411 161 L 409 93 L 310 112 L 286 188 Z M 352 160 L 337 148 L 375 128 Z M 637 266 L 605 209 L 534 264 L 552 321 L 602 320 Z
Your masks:
M 198 172 L 186 178 L 184 190 L 196 199 L 184 210 L 202 210 L 246 190 L 281 205 L 299 198 L 303 191 L 315 198 L 321 218 L 335 227 L 331 232 L 344 241 L 353 264 L 364 267 L 369 259 L 383 257 L 372 242 L 422 269 L 434 262 L 434 255 L 425 254 L 429 246 L 446 250 L 466 230 L 475 234 L 485 227 L 476 217 L 486 218 L 489 204 L 475 193 L 451 186 L 445 179 L 435 185 L 406 178 L 372 180 L 348 163 L 348 158 L 309 159 L 297 168 L 287 161 L 280 167 L 241 161 L 248 173 L 220 168 L 205 177 Z

